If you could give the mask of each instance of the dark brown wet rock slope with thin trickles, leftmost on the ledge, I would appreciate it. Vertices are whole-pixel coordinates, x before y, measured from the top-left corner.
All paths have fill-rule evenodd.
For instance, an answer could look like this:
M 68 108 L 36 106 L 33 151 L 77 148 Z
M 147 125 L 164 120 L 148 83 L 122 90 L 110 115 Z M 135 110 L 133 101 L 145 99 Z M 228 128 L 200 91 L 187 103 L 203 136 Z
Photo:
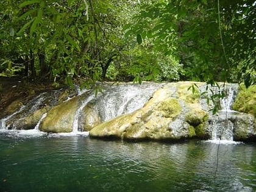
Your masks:
M 41 93 L 26 104 L 15 100 L 5 109 L 9 116 L 0 119 L 0 129 L 34 129 L 44 113 L 70 96 L 74 96 L 74 91 L 63 89 Z

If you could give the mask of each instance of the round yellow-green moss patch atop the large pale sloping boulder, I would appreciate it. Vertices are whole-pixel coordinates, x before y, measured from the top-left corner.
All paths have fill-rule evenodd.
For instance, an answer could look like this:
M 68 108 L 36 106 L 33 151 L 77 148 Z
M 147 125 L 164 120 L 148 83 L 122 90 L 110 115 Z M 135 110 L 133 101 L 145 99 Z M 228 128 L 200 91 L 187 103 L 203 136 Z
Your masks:
M 174 118 L 180 114 L 182 107 L 177 99 L 168 98 L 158 104 L 157 109 L 165 118 Z

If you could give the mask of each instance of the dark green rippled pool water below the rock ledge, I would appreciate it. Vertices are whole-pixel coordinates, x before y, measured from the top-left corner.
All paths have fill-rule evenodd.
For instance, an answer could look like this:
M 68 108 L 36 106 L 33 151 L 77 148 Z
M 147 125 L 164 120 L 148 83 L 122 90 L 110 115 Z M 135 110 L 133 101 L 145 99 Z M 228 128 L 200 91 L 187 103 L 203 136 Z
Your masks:
M 255 149 L 0 135 L 0 191 L 255 191 Z

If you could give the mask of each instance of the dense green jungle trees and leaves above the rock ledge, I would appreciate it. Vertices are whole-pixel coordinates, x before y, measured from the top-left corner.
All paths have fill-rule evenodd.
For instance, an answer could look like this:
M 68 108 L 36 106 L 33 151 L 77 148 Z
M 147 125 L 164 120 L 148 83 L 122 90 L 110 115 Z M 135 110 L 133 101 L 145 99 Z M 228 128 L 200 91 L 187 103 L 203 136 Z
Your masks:
M 0 2 L 0 76 L 255 84 L 254 0 Z

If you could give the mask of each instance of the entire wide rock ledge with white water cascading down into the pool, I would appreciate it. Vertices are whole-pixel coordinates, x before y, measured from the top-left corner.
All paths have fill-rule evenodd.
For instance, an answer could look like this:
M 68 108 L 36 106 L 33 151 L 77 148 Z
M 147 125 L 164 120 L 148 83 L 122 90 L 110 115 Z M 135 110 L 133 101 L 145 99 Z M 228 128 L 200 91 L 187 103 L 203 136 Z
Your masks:
M 40 120 L 39 129 L 43 132 L 89 131 L 91 137 L 99 138 L 256 141 L 256 92 L 243 90 L 236 96 L 237 87 L 228 84 L 223 101 L 215 97 L 222 109 L 216 115 L 210 111 L 213 103 L 208 102 L 207 96 L 219 93 L 219 89 L 211 87 L 207 92 L 207 85 L 201 82 L 104 84 L 97 96 L 91 90 L 51 91 L 26 104 L 13 101 L 6 108 L 7 114 L 12 115 L 0 119 L 0 129 L 34 129 Z M 243 97 L 249 103 L 247 107 Z M 230 107 L 235 98 L 235 110 L 243 113 Z

